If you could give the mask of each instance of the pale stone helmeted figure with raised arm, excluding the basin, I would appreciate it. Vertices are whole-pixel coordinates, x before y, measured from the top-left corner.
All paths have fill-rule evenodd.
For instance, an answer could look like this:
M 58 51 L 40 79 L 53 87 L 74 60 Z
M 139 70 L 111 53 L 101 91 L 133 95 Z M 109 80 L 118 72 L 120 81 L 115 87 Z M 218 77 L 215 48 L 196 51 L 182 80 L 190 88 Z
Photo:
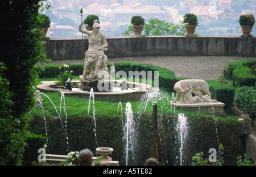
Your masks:
M 100 32 L 100 24 L 98 24 L 97 20 L 94 20 L 92 31 L 82 29 L 81 26 L 83 25 L 84 23 L 81 22 L 79 25 L 79 31 L 88 35 L 89 47 L 85 52 L 82 78 L 88 81 L 97 81 L 101 79 L 98 78 L 98 73 L 103 71 L 110 79 L 109 69 L 107 67 L 108 57 L 104 53 L 104 50 L 108 50 L 109 44 L 106 41 L 104 33 Z

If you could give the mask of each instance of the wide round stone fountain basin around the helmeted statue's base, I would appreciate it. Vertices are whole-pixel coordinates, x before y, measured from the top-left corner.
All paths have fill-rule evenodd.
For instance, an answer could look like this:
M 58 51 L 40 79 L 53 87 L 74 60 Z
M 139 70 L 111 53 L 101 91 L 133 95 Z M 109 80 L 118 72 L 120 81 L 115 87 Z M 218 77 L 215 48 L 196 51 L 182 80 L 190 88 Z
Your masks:
M 115 81 L 122 82 L 122 81 Z M 40 91 L 46 92 L 60 92 L 68 96 L 77 96 L 80 98 L 89 99 L 90 91 L 81 91 L 78 88 L 79 80 L 72 81 L 72 91 L 58 87 L 56 81 L 42 81 L 42 84 L 36 86 Z M 127 85 L 133 85 L 133 89 L 123 91 L 95 91 L 94 100 L 108 101 L 108 102 L 127 102 L 130 100 L 140 100 L 142 95 L 149 92 L 151 85 L 137 82 L 127 82 Z

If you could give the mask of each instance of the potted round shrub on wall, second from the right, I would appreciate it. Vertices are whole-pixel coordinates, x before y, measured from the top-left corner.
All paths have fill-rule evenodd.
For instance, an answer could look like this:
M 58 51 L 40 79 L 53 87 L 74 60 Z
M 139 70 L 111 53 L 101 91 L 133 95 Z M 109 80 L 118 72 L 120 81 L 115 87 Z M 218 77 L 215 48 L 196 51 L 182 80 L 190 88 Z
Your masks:
M 196 26 L 198 26 L 197 16 L 195 14 L 185 14 L 183 16 L 183 23 L 185 24 L 185 28 L 188 35 L 192 35 L 196 31 Z

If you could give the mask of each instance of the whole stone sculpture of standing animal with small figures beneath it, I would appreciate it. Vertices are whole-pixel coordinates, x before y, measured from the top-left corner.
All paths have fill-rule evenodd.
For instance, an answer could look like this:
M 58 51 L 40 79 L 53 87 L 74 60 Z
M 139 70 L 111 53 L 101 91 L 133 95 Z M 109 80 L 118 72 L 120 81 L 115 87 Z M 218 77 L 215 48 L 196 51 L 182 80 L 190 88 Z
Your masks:
M 174 85 L 174 90 L 177 92 L 174 103 L 180 98 L 180 102 L 185 102 L 188 100 L 189 103 L 201 102 L 201 99 L 205 94 L 209 96 L 204 96 L 205 102 L 210 102 L 211 94 L 209 91 L 209 85 L 202 79 L 184 79 L 178 81 Z M 196 96 L 192 97 L 191 93 L 194 93 Z

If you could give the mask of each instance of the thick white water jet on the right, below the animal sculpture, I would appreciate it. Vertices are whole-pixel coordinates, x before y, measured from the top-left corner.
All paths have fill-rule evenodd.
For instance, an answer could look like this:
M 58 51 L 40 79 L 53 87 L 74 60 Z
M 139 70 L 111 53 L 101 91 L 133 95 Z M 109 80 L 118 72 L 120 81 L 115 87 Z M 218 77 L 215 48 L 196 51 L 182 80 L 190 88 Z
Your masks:
M 184 113 L 179 113 L 176 129 L 179 132 L 179 141 L 180 141 L 179 155 L 180 155 L 180 166 L 181 166 L 183 162 L 183 155 L 184 155 L 183 150 L 187 142 L 187 136 L 188 136 L 187 116 L 185 116 Z

